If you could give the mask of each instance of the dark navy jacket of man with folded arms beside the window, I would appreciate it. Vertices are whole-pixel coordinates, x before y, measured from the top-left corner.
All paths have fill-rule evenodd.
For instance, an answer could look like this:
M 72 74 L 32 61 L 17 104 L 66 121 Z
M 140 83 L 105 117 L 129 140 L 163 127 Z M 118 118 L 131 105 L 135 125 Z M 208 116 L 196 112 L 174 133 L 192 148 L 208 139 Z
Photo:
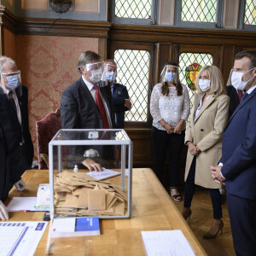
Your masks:
M 116 128 L 125 128 L 125 111 L 129 110 L 124 106 L 125 99 L 129 99 L 128 90 L 123 84 L 113 84 L 113 108 L 115 114 Z

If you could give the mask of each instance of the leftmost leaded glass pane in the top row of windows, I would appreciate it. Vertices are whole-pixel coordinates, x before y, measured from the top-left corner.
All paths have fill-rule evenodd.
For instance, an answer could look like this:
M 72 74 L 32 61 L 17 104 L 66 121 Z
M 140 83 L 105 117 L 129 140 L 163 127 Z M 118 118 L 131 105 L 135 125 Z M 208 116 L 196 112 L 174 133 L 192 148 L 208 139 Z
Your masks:
M 116 17 L 150 19 L 152 0 L 115 0 Z

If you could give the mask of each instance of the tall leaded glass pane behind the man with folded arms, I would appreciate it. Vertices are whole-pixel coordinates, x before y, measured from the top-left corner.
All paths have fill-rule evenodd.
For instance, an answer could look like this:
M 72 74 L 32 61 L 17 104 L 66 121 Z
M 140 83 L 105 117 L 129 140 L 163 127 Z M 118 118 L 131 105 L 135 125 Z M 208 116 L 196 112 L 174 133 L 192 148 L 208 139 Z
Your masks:
M 147 50 L 117 49 L 114 51 L 120 84 L 128 90 L 132 107 L 125 112 L 125 121 L 146 122 L 148 115 L 148 78 L 150 55 Z

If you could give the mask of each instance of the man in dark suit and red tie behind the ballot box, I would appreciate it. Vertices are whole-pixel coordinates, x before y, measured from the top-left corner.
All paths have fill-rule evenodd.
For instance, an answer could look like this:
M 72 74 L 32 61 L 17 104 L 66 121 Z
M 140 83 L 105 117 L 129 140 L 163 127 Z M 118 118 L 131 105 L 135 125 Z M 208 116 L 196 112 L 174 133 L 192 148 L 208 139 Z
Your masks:
M 78 63 L 81 77 L 67 87 L 61 96 L 62 129 L 108 129 L 114 127 L 113 101 L 109 86 L 99 87 L 102 79 L 103 62 L 101 55 L 84 51 Z M 82 139 L 82 138 L 81 138 Z M 84 147 L 69 148 L 70 154 L 83 156 Z M 108 154 L 104 150 L 104 154 Z M 108 158 L 104 156 L 104 158 Z M 78 159 L 74 160 L 74 162 Z M 77 163 L 76 163 L 77 164 Z M 92 166 L 92 168 L 91 168 Z M 96 163 L 87 166 L 102 170 Z

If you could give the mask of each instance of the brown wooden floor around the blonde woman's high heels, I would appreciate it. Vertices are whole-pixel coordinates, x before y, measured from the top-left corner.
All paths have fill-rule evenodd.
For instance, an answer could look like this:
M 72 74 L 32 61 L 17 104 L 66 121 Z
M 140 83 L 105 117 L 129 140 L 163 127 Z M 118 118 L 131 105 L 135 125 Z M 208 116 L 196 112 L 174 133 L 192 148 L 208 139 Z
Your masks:
M 174 201 L 177 208 L 182 211 L 183 201 Z M 233 247 L 230 229 L 230 218 L 227 203 L 222 206 L 224 229 L 222 236 L 220 231 L 216 239 L 205 240 L 202 236 L 210 230 L 212 225 L 212 201 L 207 190 L 195 191 L 192 201 L 192 215 L 190 217 L 190 228 L 195 233 L 209 256 L 233 256 L 236 255 Z

